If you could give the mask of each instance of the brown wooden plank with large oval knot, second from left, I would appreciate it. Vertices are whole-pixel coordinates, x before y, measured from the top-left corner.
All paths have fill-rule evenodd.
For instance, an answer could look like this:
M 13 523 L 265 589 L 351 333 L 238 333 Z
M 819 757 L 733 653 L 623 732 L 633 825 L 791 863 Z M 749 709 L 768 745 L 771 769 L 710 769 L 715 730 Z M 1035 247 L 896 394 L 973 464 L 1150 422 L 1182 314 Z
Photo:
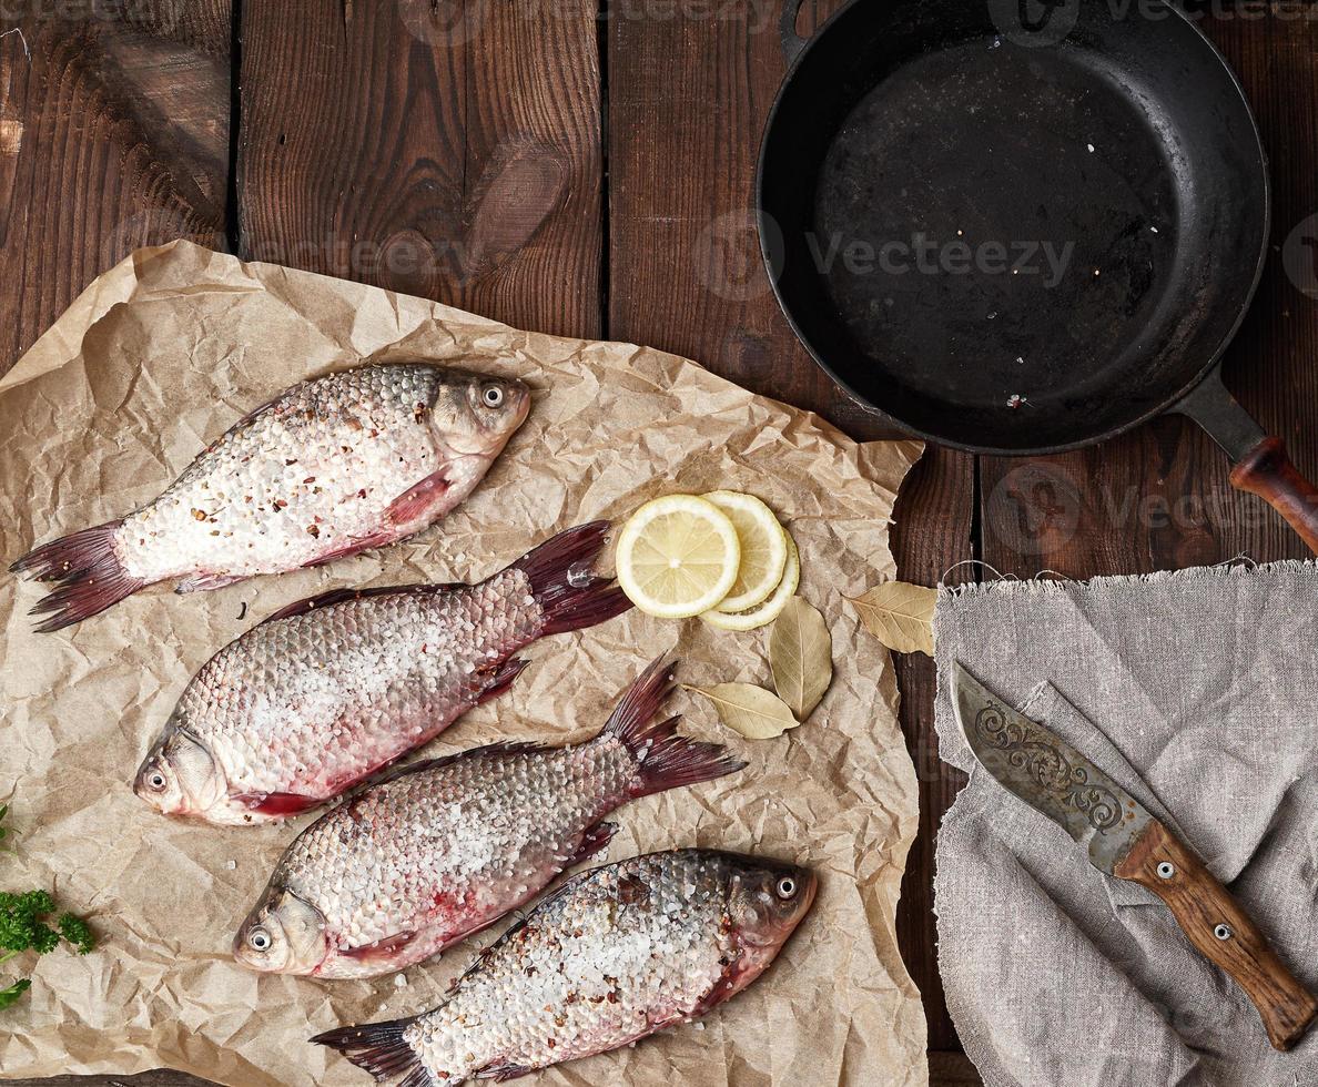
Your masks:
M 592 0 L 248 0 L 241 252 L 600 331 Z

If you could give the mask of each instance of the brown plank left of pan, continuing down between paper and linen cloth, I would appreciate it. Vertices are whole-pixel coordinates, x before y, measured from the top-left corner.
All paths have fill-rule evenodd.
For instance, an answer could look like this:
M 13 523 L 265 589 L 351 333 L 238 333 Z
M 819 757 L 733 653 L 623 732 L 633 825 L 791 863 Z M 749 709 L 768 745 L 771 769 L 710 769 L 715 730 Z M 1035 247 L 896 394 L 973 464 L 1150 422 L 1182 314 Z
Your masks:
M 803 33 L 837 4 L 808 5 Z M 778 5 L 677 5 L 609 26 L 609 335 L 675 350 L 758 393 L 820 411 L 853 436 L 891 436 L 797 345 L 762 270 L 753 220 L 759 136 L 784 63 Z M 699 13 L 704 13 L 702 16 Z M 899 576 L 933 585 L 973 552 L 973 461 L 931 451 L 898 506 Z M 965 571 L 962 572 L 965 576 Z M 933 834 L 961 785 L 937 759 L 933 667 L 898 664 L 902 723 L 921 781 L 920 839 L 898 912 L 929 1045 L 956 1049 L 937 972 Z

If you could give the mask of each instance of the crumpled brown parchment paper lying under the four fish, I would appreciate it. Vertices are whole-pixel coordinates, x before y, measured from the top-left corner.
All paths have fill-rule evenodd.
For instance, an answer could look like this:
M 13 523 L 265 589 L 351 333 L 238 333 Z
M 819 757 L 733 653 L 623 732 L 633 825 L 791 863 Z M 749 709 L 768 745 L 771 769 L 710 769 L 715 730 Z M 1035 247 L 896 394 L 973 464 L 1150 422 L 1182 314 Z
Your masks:
M 925 1025 L 894 912 L 916 829 L 916 777 L 887 654 L 844 594 L 894 574 L 887 528 L 917 443 L 857 445 L 817 418 L 629 344 L 518 332 L 416 298 L 187 242 L 144 249 L 96 279 L 0 381 L 0 557 L 153 498 L 240 415 L 287 385 L 368 360 L 453 360 L 535 387 L 530 420 L 442 524 L 320 571 L 177 597 L 157 586 L 79 627 L 32 631 L 40 586 L 0 578 L 0 796 L 13 787 L 17 859 L 0 887 L 54 887 L 101 946 L 0 967 L 33 987 L 0 1013 L 0 1075 L 157 1066 L 228 1084 L 358 1084 L 307 1038 L 436 1004 L 503 928 L 378 982 L 258 976 L 228 953 L 281 849 L 304 826 L 217 829 L 162 818 L 132 775 L 192 672 L 275 609 L 336 585 L 477 580 L 554 531 L 625 518 L 671 490 L 763 497 L 801 548 L 837 676 L 787 737 L 746 742 L 675 696 L 687 729 L 750 760 L 734 777 L 617 814 L 609 858 L 720 846 L 812 864 L 813 914 L 776 966 L 712 1013 L 634 1049 L 544 1073 L 546 1084 L 924 1084 Z M 244 605 L 246 607 L 244 609 Z M 245 613 L 245 618 L 243 617 Z M 681 679 L 768 684 L 767 636 L 631 613 L 544 639 L 513 692 L 434 746 L 561 743 L 598 730 L 660 652 Z

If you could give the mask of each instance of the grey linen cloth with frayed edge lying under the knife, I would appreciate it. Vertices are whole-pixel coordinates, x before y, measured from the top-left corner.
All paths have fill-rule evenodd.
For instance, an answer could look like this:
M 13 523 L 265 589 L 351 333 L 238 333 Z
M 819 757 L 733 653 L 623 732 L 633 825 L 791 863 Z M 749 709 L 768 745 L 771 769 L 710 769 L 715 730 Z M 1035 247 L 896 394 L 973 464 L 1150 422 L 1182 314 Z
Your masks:
M 940 593 L 936 727 L 970 783 L 938 834 L 948 1007 L 987 1087 L 1318 1084 L 1170 912 L 974 763 L 960 660 L 1194 849 L 1318 989 L 1318 568 L 1219 567 Z

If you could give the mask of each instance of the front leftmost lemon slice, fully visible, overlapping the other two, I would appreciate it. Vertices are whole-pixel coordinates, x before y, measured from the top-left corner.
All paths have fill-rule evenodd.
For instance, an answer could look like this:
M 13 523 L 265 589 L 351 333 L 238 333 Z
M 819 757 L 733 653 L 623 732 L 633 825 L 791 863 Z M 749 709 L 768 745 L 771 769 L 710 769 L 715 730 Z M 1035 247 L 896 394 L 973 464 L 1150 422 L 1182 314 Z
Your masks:
M 618 536 L 618 584 L 637 607 L 685 619 L 716 607 L 737 580 L 731 519 L 704 498 L 670 494 L 637 510 Z

